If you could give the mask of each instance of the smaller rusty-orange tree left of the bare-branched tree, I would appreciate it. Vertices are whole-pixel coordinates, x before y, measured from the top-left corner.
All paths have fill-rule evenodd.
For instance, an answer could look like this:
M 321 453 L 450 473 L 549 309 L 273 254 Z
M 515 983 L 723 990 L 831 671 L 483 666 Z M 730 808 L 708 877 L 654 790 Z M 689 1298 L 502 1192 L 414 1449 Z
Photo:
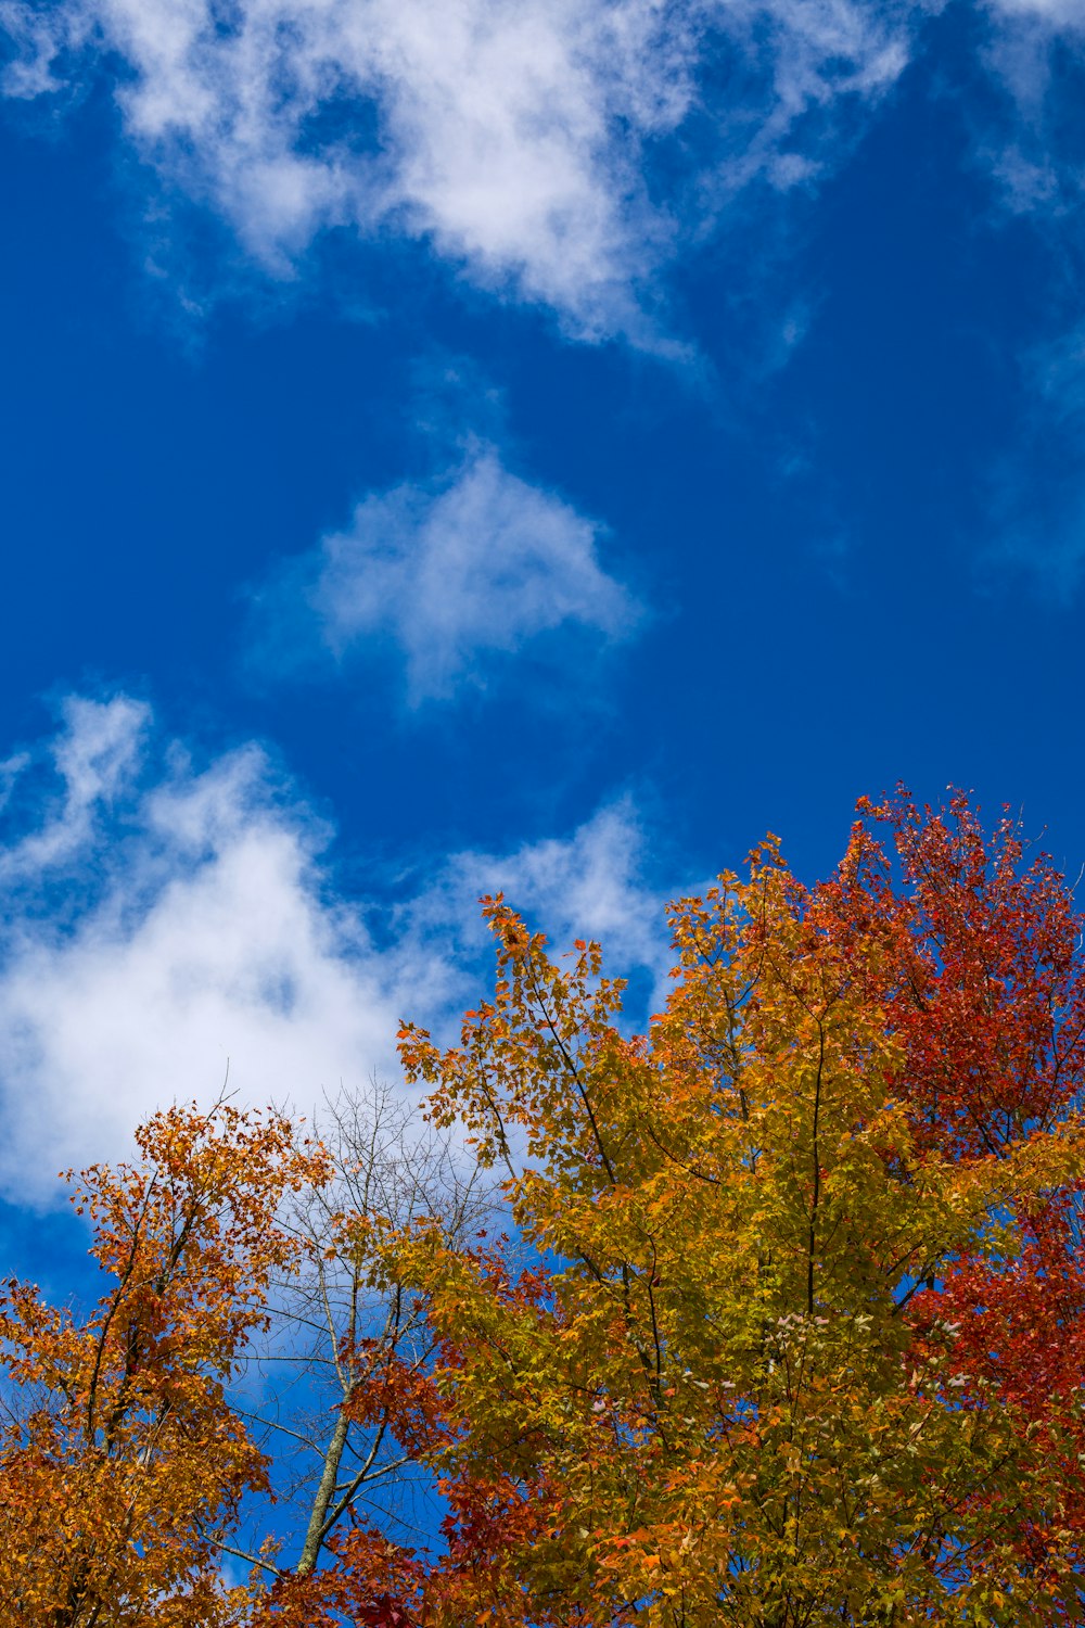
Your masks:
M 296 1257 L 283 1195 L 327 1161 L 278 1115 L 171 1109 L 142 1159 L 81 1175 L 111 1286 L 78 1320 L 34 1286 L 0 1294 L 0 1615 L 28 1628 L 241 1620 L 223 1540 L 265 1460 L 226 1398 Z

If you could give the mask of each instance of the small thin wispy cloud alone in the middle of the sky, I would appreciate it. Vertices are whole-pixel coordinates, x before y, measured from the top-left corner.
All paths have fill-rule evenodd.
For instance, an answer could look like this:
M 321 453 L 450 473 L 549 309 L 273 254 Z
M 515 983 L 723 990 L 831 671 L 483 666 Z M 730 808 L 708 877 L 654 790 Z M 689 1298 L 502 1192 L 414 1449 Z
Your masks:
M 340 659 L 390 635 L 418 705 L 480 682 L 496 654 L 563 624 L 626 632 L 634 604 L 595 542 L 590 521 L 481 446 L 442 482 L 368 497 L 348 531 L 290 562 L 262 617 L 280 654 L 312 627 Z

